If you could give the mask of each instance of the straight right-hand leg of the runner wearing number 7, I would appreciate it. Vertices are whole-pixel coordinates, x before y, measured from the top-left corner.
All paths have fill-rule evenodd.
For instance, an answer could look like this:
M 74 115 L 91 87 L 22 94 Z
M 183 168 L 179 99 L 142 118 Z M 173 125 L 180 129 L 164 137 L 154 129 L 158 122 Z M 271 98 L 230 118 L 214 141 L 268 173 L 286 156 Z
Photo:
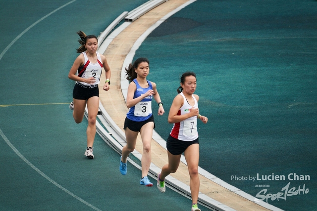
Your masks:
M 185 159 L 188 166 L 190 176 L 190 191 L 192 194 L 193 204 L 197 204 L 199 194 L 199 176 L 198 176 L 198 163 L 199 163 L 199 144 L 190 145 L 184 152 Z

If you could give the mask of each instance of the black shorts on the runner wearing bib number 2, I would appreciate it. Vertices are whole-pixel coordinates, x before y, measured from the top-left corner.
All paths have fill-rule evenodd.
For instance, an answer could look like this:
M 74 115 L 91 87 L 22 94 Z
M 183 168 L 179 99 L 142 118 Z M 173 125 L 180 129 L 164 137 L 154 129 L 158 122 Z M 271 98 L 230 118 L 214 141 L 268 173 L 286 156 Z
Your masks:
M 80 83 L 76 83 L 73 89 L 73 98 L 76 100 L 88 100 L 91 97 L 99 97 L 99 88 L 98 84 L 87 86 Z

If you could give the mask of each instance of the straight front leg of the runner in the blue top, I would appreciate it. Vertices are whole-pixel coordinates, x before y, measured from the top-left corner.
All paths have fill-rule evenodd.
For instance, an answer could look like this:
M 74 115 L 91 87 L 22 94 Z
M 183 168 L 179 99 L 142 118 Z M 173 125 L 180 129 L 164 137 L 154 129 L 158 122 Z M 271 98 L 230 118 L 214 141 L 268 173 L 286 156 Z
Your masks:
M 141 139 L 143 144 L 143 154 L 141 159 L 141 166 L 142 166 L 142 177 L 147 176 L 151 160 L 152 160 L 152 154 L 151 154 L 151 141 L 152 141 L 152 135 L 153 135 L 153 127 L 154 122 L 149 122 L 141 127 L 140 133 L 141 133 Z

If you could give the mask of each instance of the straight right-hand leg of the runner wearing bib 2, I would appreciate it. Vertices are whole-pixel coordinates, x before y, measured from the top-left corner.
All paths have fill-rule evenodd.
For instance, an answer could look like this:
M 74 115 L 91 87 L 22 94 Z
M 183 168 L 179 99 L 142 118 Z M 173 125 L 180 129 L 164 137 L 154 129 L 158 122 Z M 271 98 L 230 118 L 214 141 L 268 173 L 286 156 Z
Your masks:
M 87 127 L 87 147 L 92 147 L 96 135 L 96 119 L 99 108 L 99 97 L 94 96 L 87 100 L 88 127 Z

